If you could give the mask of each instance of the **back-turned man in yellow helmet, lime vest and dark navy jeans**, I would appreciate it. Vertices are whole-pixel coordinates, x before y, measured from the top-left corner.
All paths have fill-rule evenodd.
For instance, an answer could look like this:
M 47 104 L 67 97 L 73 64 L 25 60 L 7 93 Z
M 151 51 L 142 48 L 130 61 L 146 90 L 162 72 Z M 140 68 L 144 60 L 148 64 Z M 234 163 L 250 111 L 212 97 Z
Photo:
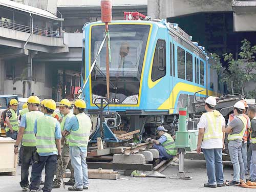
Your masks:
M 36 135 L 37 162 L 32 165 L 32 181 L 29 186 L 31 192 L 39 189 L 40 176 L 45 167 L 44 192 L 52 190 L 54 172 L 57 168 L 57 156 L 61 157 L 60 124 L 52 117 L 56 109 L 56 102 L 48 99 L 44 103 L 44 116 L 38 117 L 34 124 L 34 134 Z

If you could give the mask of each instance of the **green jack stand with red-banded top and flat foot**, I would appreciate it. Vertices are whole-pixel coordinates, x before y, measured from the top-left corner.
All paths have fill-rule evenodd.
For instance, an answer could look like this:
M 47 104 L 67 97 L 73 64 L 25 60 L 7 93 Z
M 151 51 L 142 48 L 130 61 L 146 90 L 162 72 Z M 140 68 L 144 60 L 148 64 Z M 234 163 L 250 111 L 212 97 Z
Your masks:
M 179 131 L 176 132 L 176 148 L 179 154 L 179 171 L 177 176 L 170 179 L 192 179 L 184 173 L 184 155 L 186 151 L 194 151 L 197 149 L 197 130 L 187 130 L 186 126 L 187 109 L 180 108 L 179 110 Z

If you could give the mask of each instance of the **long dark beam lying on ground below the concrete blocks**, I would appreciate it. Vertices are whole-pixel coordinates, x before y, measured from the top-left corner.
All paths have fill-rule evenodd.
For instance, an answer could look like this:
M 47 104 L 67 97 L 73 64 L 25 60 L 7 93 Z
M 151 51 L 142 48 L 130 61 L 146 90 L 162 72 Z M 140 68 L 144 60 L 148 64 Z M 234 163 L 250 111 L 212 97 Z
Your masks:
M 153 164 L 118 164 L 118 163 L 111 163 L 111 162 L 87 162 L 88 168 L 96 169 L 130 169 L 130 170 L 153 170 Z

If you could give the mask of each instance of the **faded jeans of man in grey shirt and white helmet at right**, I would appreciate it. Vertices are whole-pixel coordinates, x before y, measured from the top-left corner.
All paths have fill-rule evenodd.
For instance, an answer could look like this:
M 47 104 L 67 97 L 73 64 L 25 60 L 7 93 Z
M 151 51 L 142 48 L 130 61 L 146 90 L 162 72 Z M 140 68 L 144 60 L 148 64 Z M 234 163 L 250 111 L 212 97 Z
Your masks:
M 233 164 L 233 180 L 237 182 L 239 182 L 240 179 L 245 180 L 244 161 L 242 157 L 242 141 L 229 141 L 228 151 Z

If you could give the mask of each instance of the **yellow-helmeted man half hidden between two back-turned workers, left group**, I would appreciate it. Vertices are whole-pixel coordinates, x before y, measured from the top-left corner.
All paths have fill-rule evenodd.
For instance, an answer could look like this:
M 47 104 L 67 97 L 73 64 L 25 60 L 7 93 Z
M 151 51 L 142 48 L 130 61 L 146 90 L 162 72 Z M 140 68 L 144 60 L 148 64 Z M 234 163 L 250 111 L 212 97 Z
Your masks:
M 65 185 L 74 185 L 75 184 L 74 169 L 71 166 L 71 161 L 70 161 L 70 157 L 69 157 L 69 143 L 68 143 L 69 136 L 66 137 L 64 134 L 65 127 L 67 126 L 70 118 L 74 116 L 72 111 L 70 111 L 70 108 L 71 108 L 71 103 L 68 99 L 62 99 L 60 101 L 59 111 L 63 115 L 63 118 L 61 118 L 59 120 L 61 120 L 60 129 L 62 132 L 62 139 L 64 139 L 64 141 L 63 141 L 63 148 L 61 151 L 61 159 L 58 159 L 59 166 L 57 169 L 56 178 L 53 181 L 52 188 L 60 187 L 62 174 L 66 172 L 67 167 L 71 170 L 71 176 L 70 176 L 70 180 L 68 182 L 65 182 Z M 62 163 L 61 163 L 61 160 L 62 160 Z

